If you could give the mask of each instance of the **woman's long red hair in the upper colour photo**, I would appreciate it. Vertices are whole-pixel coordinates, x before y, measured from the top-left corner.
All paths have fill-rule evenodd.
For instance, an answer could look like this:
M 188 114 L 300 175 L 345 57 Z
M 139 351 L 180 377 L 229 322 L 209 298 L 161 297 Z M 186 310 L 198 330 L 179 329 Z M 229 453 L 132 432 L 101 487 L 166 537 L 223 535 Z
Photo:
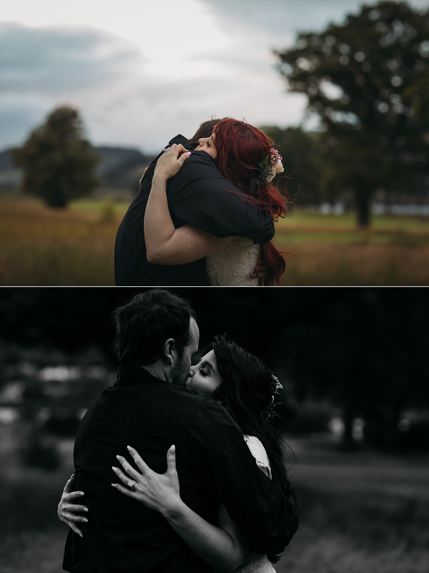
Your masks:
M 260 129 L 236 119 L 223 119 L 213 128 L 217 163 L 222 175 L 247 195 L 248 201 L 258 209 L 269 211 L 274 221 L 284 217 L 285 195 L 273 185 L 262 183 L 253 188 L 251 181 L 263 156 L 273 147 L 273 140 Z M 262 243 L 262 255 L 270 267 L 264 284 L 281 284 L 285 260 L 271 241 Z

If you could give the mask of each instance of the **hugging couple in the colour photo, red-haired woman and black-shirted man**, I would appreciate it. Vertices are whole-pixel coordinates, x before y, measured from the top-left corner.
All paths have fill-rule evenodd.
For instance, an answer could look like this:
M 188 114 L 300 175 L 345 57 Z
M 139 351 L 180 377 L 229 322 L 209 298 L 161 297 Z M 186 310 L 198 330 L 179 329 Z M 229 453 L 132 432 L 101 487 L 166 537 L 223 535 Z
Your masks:
M 274 221 L 285 197 L 273 141 L 230 118 L 170 141 L 145 171 L 115 244 L 118 286 L 258 286 L 280 283 Z

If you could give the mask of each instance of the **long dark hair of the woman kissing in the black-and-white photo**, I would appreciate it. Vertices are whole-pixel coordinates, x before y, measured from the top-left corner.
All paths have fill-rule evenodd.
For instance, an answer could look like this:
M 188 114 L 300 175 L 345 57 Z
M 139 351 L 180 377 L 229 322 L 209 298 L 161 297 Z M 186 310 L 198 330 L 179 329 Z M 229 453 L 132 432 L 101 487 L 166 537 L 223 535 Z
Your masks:
M 290 486 L 284 463 L 285 443 L 279 437 L 272 421 L 272 402 L 275 390 L 273 372 L 257 356 L 247 352 L 227 336 L 217 336 L 207 350 L 213 350 L 222 378 L 215 390 L 214 399 L 221 401 L 245 435 L 254 435 L 261 440 L 270 461 L 271 476 L 288 497 L 295 515 L 294 527 L 298 527 L 296 498 Z M 204 354 L 206 352 L 204 351 Z M 275 555 L 268 555 L 272 563 Z

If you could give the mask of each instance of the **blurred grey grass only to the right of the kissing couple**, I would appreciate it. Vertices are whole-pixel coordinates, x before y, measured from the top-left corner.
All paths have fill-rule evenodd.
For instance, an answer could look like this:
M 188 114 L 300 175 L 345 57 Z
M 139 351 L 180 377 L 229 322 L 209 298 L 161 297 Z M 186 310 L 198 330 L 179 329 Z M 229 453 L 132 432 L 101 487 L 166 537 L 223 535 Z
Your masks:
M 426 573 L 427 459 L 344 453 L 323 434 L 288 443 L 301 524 L 277 573 Z

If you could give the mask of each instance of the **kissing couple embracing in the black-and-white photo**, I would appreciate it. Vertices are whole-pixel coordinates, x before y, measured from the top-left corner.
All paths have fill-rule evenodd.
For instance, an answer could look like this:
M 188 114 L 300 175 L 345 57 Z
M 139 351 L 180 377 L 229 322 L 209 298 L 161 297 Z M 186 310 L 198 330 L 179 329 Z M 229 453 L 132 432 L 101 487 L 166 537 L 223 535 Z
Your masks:
M 82 419 L 58 506 L 63 568 L 272 573 L 298 524 L 271 422 L 280 382 L 224 336 L 191 366 L 194 311 L 168 291 L 136 295 L 116 325 L 117 380 Z

